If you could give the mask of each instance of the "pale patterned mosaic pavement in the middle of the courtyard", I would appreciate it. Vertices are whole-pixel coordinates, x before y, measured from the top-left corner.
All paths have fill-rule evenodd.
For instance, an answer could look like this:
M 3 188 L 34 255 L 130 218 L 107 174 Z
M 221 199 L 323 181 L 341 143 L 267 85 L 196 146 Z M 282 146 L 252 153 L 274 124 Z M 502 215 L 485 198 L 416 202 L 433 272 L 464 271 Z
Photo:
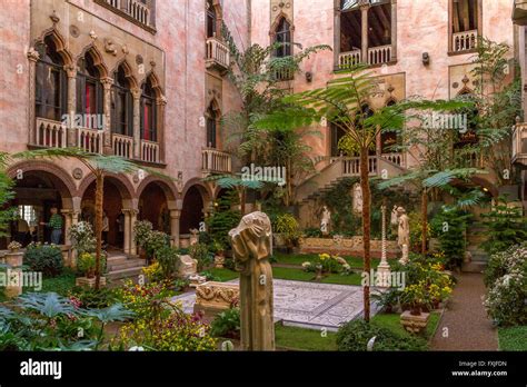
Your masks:
M 359 286 L 275 279 L 274 292 L 275 320 L 289 326 L 336 331 L 340 324 L 361 316 L 364 310 Z M 183 310 L 192 312 L 196 296 L 187 292 L 172 300 L 181 301 Z M 371 309 L 374 314 L 374 305 Z

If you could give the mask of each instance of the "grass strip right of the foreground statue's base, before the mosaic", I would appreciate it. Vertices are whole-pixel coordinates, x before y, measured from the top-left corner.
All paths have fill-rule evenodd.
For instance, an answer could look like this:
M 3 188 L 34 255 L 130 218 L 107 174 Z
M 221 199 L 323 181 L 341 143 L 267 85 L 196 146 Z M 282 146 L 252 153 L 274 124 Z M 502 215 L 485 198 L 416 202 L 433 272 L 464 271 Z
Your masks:
M 320 330 L 304 329 L 297 327 L 275 326 L 275 339 L 277 347 L 285 347 L 297 350 L 337 350 L 334 333 L 326 333 L 322 337 Z

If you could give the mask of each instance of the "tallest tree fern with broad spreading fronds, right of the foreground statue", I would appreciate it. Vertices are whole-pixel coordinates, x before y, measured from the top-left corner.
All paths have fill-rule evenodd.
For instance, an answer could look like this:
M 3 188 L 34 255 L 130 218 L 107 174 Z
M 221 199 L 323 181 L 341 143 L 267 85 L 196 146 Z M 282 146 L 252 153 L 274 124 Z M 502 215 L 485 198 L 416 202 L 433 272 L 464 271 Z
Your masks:
M 370 214 L 371 191 L 369 183 L 368 152 L 377 136 L 384 130 L 401 130 L 407 111 L 450 110 L 465 106 L 459 101 L 410 100 L 371 111 L 369 102 L 379 92 L 372 73 L 365 64 L 352 66 L 339 71 L 339 77 L 326 88 L 287 96 L 284 106 L 271 113 L 260 116 L 253 123 L 260 129 L 295 129 L 318 123 L 322 119 L 346 132 L 360 158 L 360 187 L 362 189 L 362 238 L 364 271 L 371 269 L 370 255 Z M 364 288 L 364 318 L 370 317 L 369 285 Z

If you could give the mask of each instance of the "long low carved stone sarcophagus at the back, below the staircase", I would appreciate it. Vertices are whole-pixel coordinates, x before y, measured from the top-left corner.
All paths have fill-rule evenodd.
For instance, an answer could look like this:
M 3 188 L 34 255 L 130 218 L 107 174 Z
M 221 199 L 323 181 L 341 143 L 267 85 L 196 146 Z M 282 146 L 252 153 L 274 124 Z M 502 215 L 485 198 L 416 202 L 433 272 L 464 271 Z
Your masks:
M 386 241 L 387 255 L 390 258 L 397 257 L 399 254 L 399 247 L 397 241 Z M 335 255 L 358 255 L 360 256 L 364 250 L 362 237 L 351 238 L 302 238 L 300 239 L 300 252 L 301 254 L 317 254 L 317 252 L 329 252 Z M 380 257 L 381 241 L 378 239 L 371 239 L 371 254 Z

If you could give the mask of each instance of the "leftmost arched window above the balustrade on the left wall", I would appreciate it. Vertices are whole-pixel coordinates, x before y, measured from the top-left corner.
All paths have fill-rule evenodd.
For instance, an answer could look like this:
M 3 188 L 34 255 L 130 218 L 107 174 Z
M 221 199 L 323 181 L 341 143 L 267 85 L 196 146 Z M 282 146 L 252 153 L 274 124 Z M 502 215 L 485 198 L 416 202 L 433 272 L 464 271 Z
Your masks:
M 37 46 L 40 59 L 37 62 L 36 115 L 54 121 L 61 121 L 67 112 L 68 82 L 64 62 L 57 52 L 51 36 Z

